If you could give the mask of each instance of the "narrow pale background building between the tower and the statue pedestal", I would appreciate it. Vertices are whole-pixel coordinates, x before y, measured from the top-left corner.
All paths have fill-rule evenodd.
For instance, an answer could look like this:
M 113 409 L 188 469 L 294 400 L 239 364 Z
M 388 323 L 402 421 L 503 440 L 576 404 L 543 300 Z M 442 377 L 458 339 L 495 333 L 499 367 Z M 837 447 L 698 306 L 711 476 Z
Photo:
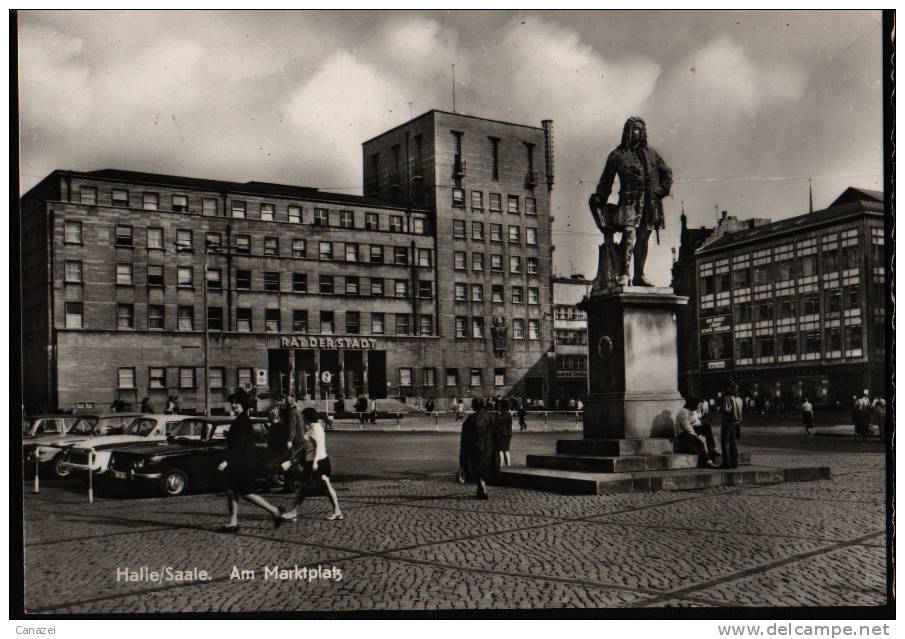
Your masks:
M 591 282 L 583 275 L 553 278 L 553 408 L 567 408 L 569 400 L 588 397 L 588 317 L 576 305 L 590 290 Z

